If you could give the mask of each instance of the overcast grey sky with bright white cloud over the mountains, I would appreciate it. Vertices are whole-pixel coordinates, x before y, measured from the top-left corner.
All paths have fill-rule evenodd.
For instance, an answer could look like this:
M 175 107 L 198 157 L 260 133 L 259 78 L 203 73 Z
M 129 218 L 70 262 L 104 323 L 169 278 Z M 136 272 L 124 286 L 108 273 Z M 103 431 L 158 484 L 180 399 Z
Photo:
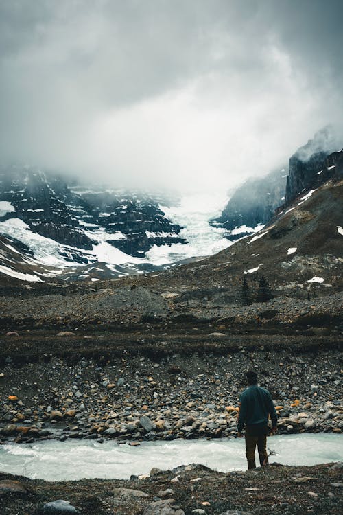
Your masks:
M 342 0 L 0 0 L 0 160 L 185 191 L 268 173 L 340 126 L 342 18 Z

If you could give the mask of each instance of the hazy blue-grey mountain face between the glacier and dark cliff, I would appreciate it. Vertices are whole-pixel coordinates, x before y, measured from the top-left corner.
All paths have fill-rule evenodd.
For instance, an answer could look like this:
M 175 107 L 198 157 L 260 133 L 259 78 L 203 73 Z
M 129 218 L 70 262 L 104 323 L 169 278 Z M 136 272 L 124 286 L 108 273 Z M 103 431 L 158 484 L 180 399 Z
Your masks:
M 268 223 L 275 209 L 285 201 L 285 168 L 259 179 L 248 179 L 235 191 L 222 214 L 211 220 L 211 225 L 224 227 L 228 230 L 226 238 L 237 240 Z

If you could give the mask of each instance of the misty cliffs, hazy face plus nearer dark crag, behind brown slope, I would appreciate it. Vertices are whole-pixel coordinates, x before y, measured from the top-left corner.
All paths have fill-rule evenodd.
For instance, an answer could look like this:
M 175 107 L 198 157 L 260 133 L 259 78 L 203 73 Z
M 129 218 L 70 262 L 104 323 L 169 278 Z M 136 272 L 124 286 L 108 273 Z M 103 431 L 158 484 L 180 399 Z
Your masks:
M 228 229 L 226 238 L 236 240 L 269 223 L 278 207 L 289 205 L 298 194 L 318 187 L 332 176 L 331 170 L 340 157 L 340 152 L 334 152 L 337 145 L 330 126 L 318 130 L 313 139 L 296 150 L 287 166 L 241 185 L 212 224 Z

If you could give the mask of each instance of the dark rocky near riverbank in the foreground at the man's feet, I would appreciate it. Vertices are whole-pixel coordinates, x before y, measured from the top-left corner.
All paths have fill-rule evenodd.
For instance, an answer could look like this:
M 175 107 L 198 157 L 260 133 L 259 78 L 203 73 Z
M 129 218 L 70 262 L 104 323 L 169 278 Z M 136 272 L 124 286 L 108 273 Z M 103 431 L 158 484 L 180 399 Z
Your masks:
M 131 481 L 48 483 L 0 473 L 1 515 L 339 515 L 341 479 L 342 463 L 227 474 L 199 465 L 155 468 Z

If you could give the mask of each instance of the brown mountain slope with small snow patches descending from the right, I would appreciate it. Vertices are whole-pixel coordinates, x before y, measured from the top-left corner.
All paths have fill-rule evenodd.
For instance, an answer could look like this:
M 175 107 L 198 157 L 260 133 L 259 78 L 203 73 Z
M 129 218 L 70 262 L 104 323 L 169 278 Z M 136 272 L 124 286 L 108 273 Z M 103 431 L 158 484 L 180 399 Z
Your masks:
M 191 313 L 204 319 L 227 317 L 228 306 L 241 306 L 243 277 L 252 301 L 257 300 L 262 276 L 276 299 L 328 298 L 342 293 L 343 150 L 333 152 L 325 162 L 335 163 L 328 167 L 329 179 L 279 209 L 272 222 L 254 235 L 156 279 L 141 277 L 137 284 L 174 294 L 173 302 L 182 316 Z M 342 299 L 332 297 L 332 301 L 338 302 L 335 310 L 340 310 Z M 279 302 L 280 313 L 286 304 Z M 327 310 L 324 304 L 322 310 Z

